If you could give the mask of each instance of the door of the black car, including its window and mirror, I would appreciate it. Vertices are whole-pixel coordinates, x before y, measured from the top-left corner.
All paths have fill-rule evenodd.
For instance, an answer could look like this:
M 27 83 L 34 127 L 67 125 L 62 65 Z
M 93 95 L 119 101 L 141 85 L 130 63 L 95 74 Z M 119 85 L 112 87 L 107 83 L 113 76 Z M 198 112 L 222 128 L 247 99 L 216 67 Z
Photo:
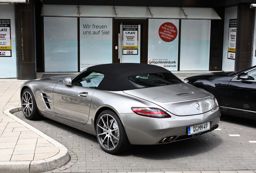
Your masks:
M 256 113 L 255 103 L 256 69 L 252 69 L 239 74 L 229 82 L 227 85 L 227 105 L 234 110 L 254 114 Z

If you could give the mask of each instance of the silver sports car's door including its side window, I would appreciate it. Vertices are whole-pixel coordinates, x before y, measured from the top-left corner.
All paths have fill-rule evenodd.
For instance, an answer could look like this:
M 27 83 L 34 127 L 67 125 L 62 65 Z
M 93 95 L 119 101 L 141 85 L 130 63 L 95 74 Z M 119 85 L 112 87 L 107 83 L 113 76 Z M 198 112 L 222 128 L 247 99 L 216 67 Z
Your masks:
M 89 118 L 91 99 L 104 75 L 82 72 L 72 80 L 72 85 L 59 83 L 54 87 L 54 116 L 85 124 Z

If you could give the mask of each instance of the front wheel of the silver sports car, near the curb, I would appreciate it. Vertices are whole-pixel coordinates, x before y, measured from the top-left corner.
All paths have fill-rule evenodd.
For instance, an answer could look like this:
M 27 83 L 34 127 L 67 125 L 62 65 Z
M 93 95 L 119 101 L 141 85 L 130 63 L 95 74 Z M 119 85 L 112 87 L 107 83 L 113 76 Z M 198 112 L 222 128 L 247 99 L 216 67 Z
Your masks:
M 26 119 L 35 120 L 39 117 L 35 97 L 30 89 L 25 89 L 21 96 L 21 106 Z

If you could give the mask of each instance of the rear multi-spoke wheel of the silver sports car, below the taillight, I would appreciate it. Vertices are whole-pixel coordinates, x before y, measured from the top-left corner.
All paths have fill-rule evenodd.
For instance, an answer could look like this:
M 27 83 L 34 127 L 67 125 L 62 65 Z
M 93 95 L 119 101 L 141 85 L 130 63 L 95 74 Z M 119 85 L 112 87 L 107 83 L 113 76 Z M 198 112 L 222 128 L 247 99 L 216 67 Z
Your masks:
M 116 113 L 110 110 L 101 112 L 96 125 L 97 140 L 105 152 L 114 154 L 130 148 L 124 126 Z

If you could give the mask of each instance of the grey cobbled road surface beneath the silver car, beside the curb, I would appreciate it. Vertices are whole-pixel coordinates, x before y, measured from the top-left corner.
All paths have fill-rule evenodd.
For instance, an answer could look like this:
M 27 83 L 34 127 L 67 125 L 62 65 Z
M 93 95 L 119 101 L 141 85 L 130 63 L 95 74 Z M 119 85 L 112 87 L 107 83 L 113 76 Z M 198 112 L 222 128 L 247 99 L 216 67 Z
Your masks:
M 219 128 L 195 139 L 165 145 L 136 145 L 110 155 L 95 136 L 41 117 L 17 117 L 49 135 L 70 150 L 70 168 L 52 172 L 159 172 L 256 169 L 256 121 L 222 116 Z

